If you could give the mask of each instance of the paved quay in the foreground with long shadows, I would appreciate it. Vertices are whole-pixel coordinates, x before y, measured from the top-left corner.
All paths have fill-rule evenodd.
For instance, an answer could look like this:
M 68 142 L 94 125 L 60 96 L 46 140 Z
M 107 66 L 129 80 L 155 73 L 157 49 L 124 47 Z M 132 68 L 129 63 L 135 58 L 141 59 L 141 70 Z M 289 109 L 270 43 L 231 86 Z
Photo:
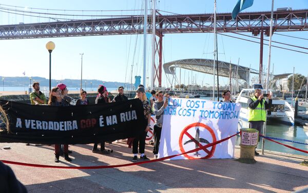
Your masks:
M 54 163 L 53 146 L 11 146 L 0 150 L 3 160 L 57 166 L 99 166 L 131 163 L 131 148 L 126 143 L 106 144 L 114 152 L 94 154 L 92 144 L 70 145 L 67 162 Z M 152 146 L 145 154 L 153 159 Z M 239 158 L 235 149 L 235 158 Z M 308 159 L 308 157 L 306 157 Z M 304 157 L 265 153 L 256 164 L 235 159 L 172 160 L 106 169 L 52 169 L 9 165 L 18 180 L 31 192 L 290 192 L 308 187 L 308 169 L 299 163 Z

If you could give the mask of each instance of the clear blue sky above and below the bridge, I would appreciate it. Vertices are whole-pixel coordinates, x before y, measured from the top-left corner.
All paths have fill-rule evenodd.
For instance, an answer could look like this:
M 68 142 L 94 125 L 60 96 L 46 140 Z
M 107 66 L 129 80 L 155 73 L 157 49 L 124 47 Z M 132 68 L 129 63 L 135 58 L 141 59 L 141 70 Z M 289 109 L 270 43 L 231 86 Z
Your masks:
M 237 0 L 217 0 L 218 13 L 232 12 Z M 213 13 L 214 1 L 176 1 L 160 0 L 158 8 L 181 14 Z M 254 5 L 245 11 L 270 11 L 269 0 L 255 0 Z M 65 10 L 131 10 L 143 9 L 141 0 L 123 1 L 1 1 L 1 4 L 25 7 L 24 10 L 49 12 L 46 10 L 33 10 L 31 8 L 65 9 Z M 150 5 L 150 3 L 148 3 Z M 0 7 L 5 7 L 0 5 Z M 276 0 L 274 10 L 281 7 L 292 7 L 292 9 L 308 9 L 308 1 Z M 13 8 L 14 9 L 14 8 Z M 23 9 L 23 8 L 16 8 Z M 80 12 L 62 11 L 58 13 L 81 14 Z M 120 11 L 103 12 L 97 11 L 91 14 L 142 14 L 143 11 Z M 163 12 L 161 12 L 163 13 Z M 163 13 L 165 14 L 165 13 Z M 86 17 L 83 17 L 86 18 Z M 89 18 L 89 17 L 88 17 Z M 82 19 L 82 17 L 80 17 Z M 52 22 L 53 20 L 27 16 L 16 16 L 0 12 L 0 25 L 37 22 Z M 282 32 L 280 32 L 282 33 Z M 251 33 L 244 33 L 252 35 Z M 308 32 L 284 32 L 282 34 L 296 37 L 308 37 Z M 233 34 L 231 34 L 233 35 Z M 268 39 L 268 37 L 265 37 Z M 150 35 L 148 35 L 148 63 L 150 63 Z M 49 77 L 49 56 L 45 48 L 46 42 L 52 40 L 55 50 L 52 52 L 52 79 L 80 79 L 81 58 L 83 57 L 83 79 L 99 79 L 102 81 L 130 81 L 131 64 L 134 63 L 133 76 L 142 75 L 143 66 L 143 37 L 142 35 L 113 35 L 92 37 L 61 37 L 61 38 L 39 38 L 39 39 L 15 39 L 2 40 L 0 42 L 1 71 L 0 76 L 42 76 Z M 307 47 L 307 40 L 300 40 L 285 36 L 274 35 L 274 41 L 284 42 L 301 47 Z M 257 40 L 258 41 L 258 40 Z M 219 60 L 237 63 L 240 65 L 259 68 L 259 44 L 243 41 L 231 37 L 218 35 Z M 137 46 L 135 46 L 137 45 Z M 186 58 L 213 58 L 213 34 L 165 34 L 163 38 L 163 63 Z M 275 45 L 275 44 L 274 44 Z M 136 48 L 136 54 L 133 51 Z M 305 51 L 305 50 L 303 50 Z M 305 51 L 306 52 L 306 51 Z M 263 65 L 267 66 L 268 47 L 264 46 Z M 272 48 L 272 62 L 274 74 L 292 73 L 295 67 L 296 73 L 305 76 L 308 74 L 308 55 L 296 53 L 278 48 Z M 271 67 L 272 68 L 272 67 Z M 272 69 L 271 69 L 272 72 Z M 186 72 L 185 82 L 187 83 Z M 182 71 L 182 78 L 184 71 Z M 147 71 L 147 76 L 150 73 Z M 210 75 L 193 73 L 197 77 L 197 83 L 213 84 Z M 190 75 L 189 75 L 190 76 Z M 126 77 L 126 78 L 125 78 Z M 184 82 L 184 79 L 182 79 Z M 227 84 L 226 78 L 221 78 L 220 84 Z M 163 85 L 167 85 L 163 73 Z

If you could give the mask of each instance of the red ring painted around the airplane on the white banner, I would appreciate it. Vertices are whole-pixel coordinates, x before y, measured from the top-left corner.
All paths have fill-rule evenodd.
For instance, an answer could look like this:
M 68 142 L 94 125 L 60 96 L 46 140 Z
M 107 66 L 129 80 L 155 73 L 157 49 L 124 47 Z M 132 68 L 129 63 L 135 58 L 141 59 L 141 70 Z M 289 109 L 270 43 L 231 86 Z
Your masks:
M 203 123 L 191 123 L 189 125 L 187 125 L 184 130 L 181 132 L 181 135 L 180 135 L 180 139 L 179 139 L 179 145 L 180 145 L 180 151 L 181 153 L 185 153 L 185 149 L 183 147 L 183 137 L 184 135 L 187 135 L 186 132 L 187 130 L 189 130 L 189 128 L 192 128 L 192 127 L 196 127 L 196 126 L 200 126 L 200 127 L 204 127 L 206 128 L 206 130 L 210 133 L 211 137 L 213 138 L 213 142 L 216 142 L 216 136 L 215 136 L 215 133 L 213 131 L 213 129 L 211 127 L 209 127 L 208 125 L 206 124 L 203 124 Z M 189 137 L 190 138 L 190 137 Z M 200 144 L 201 145 L 201 144 Z M 199 145 L 199 146 L 200 146 Z M 187 154 L 184 154 L 184 156 L 188 159 L 207 159 L 207 158 L 211 158 L 213 155 L 214 155 L 214 152 L 215 152 L 215 148 L 216 148 L 216 145 L 213 145 L 209 151 L 209 153 L 207 154 L 207 156 L 205 157 L 200 157 L 200 158 L 196 158 L 196 157 L 192 157 L 192 156 L 188 156 Z

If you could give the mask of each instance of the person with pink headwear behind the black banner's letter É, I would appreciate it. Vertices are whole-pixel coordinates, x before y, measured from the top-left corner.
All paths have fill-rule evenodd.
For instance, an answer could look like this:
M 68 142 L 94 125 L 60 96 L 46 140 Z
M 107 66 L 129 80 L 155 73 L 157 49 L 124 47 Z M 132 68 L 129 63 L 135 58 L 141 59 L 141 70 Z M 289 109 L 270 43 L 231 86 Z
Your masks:
M 95 104 L 110 102 L 110 98 L 108 97 L 108 91 L 104 85 L 99 85 L 98 93 L 99 94 L 95 99 Z M 94 143 L 92 152 L 98 152 L 98 143 Z M 101 141 L 101 153 L 110 154 L 110 152 L 105 149 L 105 141 Z

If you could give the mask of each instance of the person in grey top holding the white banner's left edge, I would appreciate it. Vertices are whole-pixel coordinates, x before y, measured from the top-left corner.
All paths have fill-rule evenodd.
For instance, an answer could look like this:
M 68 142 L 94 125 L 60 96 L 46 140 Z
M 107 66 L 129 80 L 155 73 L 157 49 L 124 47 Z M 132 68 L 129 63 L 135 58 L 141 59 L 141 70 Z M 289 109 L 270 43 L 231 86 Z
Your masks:
M 162 133 L 162 126 L 164 120 L 164 110 L 168 105 L 169 96 L 164 100 L 164 95 L 162 91 L 158 91 L 156 93 L 157 101 L 153 104 L 154 114 L 156 115 L 156 121 L 154 124 L 154 146 L 153 146 L 153 154 L 157 158 L 158 157 L 158 148 L 160 144 L 160 138 Z

